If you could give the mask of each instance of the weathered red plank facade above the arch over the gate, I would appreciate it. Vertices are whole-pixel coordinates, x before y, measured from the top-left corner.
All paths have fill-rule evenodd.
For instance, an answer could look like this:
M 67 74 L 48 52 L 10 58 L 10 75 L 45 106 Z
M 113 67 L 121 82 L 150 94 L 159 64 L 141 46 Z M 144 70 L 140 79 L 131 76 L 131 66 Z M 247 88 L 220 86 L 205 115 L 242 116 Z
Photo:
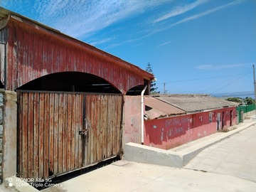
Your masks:
M 8 65 L 3 70 L 7 90 L 16 90 L 43 75 L 66 71 L 97 75 L 123 94 L 144 85 L 144 80 L 154 79 L 154 75 L 131 63 L 61 33 L 36 28 L 31 25 L 34 21 L 26 19 L 21 22 L 11 17 L 7 24 Z

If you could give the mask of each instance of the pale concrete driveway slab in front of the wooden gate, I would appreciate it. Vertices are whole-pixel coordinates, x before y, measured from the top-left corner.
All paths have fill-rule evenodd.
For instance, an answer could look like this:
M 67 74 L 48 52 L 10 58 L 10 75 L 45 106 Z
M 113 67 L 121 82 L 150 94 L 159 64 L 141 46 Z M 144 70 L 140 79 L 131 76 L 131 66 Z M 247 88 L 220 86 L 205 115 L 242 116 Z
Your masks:
M 169 166 L 117 161 L 88 174 L 47 188 L 65 191 L 255 191 L 256 183 L 233 176 L 178 169 Z

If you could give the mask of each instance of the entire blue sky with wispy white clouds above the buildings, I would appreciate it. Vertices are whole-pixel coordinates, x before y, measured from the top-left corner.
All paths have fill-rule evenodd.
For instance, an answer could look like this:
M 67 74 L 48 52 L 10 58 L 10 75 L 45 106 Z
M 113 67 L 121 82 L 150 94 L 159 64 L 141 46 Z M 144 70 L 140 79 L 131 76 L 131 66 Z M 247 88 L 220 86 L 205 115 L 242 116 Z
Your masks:
M 2 0 L 122 60 L 168 93 L 253 91 L 255 0 Z

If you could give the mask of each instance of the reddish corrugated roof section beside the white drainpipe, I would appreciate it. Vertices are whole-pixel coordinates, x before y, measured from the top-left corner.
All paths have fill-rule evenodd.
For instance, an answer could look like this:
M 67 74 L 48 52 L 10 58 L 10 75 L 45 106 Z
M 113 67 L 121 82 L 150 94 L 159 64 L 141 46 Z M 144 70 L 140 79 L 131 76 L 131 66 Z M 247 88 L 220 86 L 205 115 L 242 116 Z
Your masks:
M 151 108 L 150 110 L 146 110 L 146 115 L 149 119 L 156 119 L 159 117 L 169 117 L 177 114 L 185 114 L 186 112 L 178 109 L 172 105 L 169 105 L 166 102 L 161 100 L 157 100 L 154 97 L 145 97 L 145 105 L 147 108 Z

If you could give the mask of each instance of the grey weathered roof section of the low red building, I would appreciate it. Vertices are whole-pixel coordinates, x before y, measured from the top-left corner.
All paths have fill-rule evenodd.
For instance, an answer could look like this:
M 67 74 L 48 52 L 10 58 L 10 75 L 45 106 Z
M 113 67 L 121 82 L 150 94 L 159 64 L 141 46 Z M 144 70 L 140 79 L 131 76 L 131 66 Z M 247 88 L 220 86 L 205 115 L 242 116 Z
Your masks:
M 217 97 L 211 97 L 210 95 L 157 95 L 154 98 L 169 103 L 186 112 L 235 107 L 233 102 Z

